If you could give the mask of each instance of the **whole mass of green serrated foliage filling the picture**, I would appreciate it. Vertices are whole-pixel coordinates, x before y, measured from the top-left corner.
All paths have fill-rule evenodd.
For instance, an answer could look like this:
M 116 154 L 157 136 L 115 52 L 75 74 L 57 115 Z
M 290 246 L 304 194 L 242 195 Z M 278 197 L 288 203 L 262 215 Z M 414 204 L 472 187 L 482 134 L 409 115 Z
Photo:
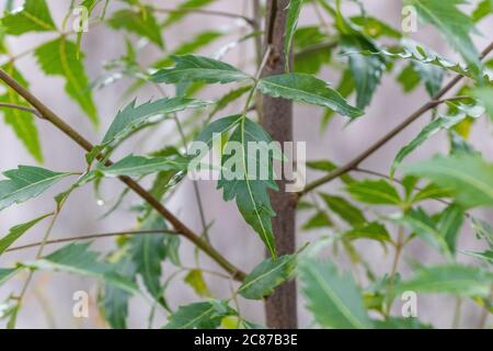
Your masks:
M 419 30 L 428 31 L 433 26 L 450 49 L 459 54 L 459 59 L 416 42 L 414 37 L 419 36 L 401 33 L 383 15 L 369 13 L 364 1 L 290 0 L 285 8 L 261 7 L 255 19 L 248 13 L 209 9 L 214 3 L 214 0 L 183 0 L 173 9 L 164 9 L 158 2 L 144 0 L 78 0 L 70 1 L 69 7 L 61 5 L 67 11 L 65 16 L 59 16 L 46 0 L 9 1 L 2 9 L 0 79 L 5 89 L 0 94 L 0 107 L 5 125 L 37 163 L 53 159 L 47 148 L 43 150 L 46 141 L 38 132 L 38 121 L 49 122 L 87 152 L 85 157 L 73 156 L 80 161 L 76 165 L 83 163 L 76 171 L 54 171 L 39 165 L 3 171 L 2 215 L 14 204 L 37 197 L 45 201 L 51 191 L 57 191 L 55 201 L 46 202 L 53 212 L 30 214 L 35 219 L 12 225 L 0 237 L 1 257 L 12 250 L 38 247 L 34 259 L 0 268 L 2 291 L 14 286 L 11 280 L 24 279 L 21 272 L 30 272 L 20 295 L 12 293 L 0 304 L 0 319 L 5 326 L 15 327 L 31 275 L 37 271 L 70 273 L 95 282 L 101 316 L 108 327 L 118 329 L 128 327 L 133 299 L 149 305 L 149 327 L 157 327 L 154 314 L 162 313 L 167 322 L 158 327 L 168 329 L 262 328 L 244 319 L 240 305 L 244 299 L 261 304 L 266 298 L 277 298 L 272 295 L 291 280 L 298 282 L 303 305 L 321 328 L 433 328 L 421 316 L 404 318 L 395 313 L 399 297 L 410 291 L 420 298 L 422 294 L 447 294 L 458 301 L 470 299 L 491 313 L 493 229 L 471 211 L 493 206 L 493 165 L 484 151 L 488 144 L 471 137 L 471 133 L 477 126 L 491 124 L 493 118 L 490 76 L 493 64 L 488 58 L 491 45 L 484 55 L 474 45 L 478 23 L 491 19 L 493 2 L 477 1 L 471 9 L 462 7 L 465 0 L 402 1 L 416 11 Z M 88 10 L 89 33 L 72 30 L 76 20 L 72 11 L 78 5 Z M 305 21 L 310 8 L 318 22 Z M 271 29 L 259 25 L 270 23 L 264 16 L 276 14 L 272 11 L 284 12 L 283 33 L 276 23 L 271 23 Z M 198 15 L 217 19 L 210 22 L 217 23 L 216 27 L 183 33 L 177 39 L 171 37 L 170 33 L 180 30 L 172 31 L 172 26 Z M 87 41 L 91 35 L 100 35 L 93 31 L 106 29 L 113 37 L 121 38 L 115 44 L 122 48 L 119 54 L 105 50 L 102 67 L 88 65 L 92 53 Z M 282 37 L 273 41 L 273 35 Z M 16 54 L 24 43 L 19 45 L 16 41 L 24 36 L 32 37 L 35 45 Z M 14 42 L 16 45 L 12 45 Z M 274 42 L 283 47 L 276 47 Z M 248 50 L 241 52 L 239 64 L 229 53 L 243 46 Z M 59 117 L 36 92 L 28 92 L 33 81 L 23 71 L 24 57 L 34 58 L 43 73 L 43 84 L 57 99 L 72 101 L 73 111 L 61 111 Z M 271 73 L 276 63 L 286 65 Z M 445 84 L 450 76 L 457 78 Z M 53 78 L 62 81 L 65 91 L 51 92 Z M 376 125 L 382 139 L 342 166 L 329 159 L 312 160 L 309 155 L 308 177 L 320 178 L 298 193 L 287 193 L 283 182 L 278 182 L 283 174 L 277 174 L 276 166 L 286 162 L 289 155 L 284 155 L 287 152 L 283 146 L 273 143 L 264 129 L 265 101 L 284 99 L 320 109 L 321 129 L 333 138 L 346 129 L 336 131 L 330 122 L 342 116 L 351 128 L 367 118 L 366 112 L 379 99 L 379 87 L 389 79 L 395 79 L 402 93 L 421 89 L 429 98 L 389 134 L 386 134 L 389 126 Z M 104 89 L 116 82 L 124 101 L 122 109 L 108 106 L 104 100 Z M 214 89 L 209 89 L 211 84 Z M 39 89 L 38 84 L 31 86 Z M 452 94 L 456 87 L 459 89 Z M 147 88 L 159 95 L 144 100 Z M 106 120 L 103 111 L 105 114 L 113 111 L 114 117 Z M 398 125 L 400 112 L 392 111 L 386 116 L 389 125 Z M 95 146 L 79 134 L 85 127 L 66 124 L 79 118 L 78 114 L 87 118 L 77 123 L 108 126 L 99 131 L 102 138 Z M 428 114 L 432 118 L 426 121 Z M 279 113 L 279 121 L 283 117 Z M 312 115 L 296 118 L 306 124 L 319 122 Z M 419 118 L 424 121 L 420 132 L 409 139 L 397 140 L 393 161 L 380 162 L 388 169 L 381 172 L 363 166 Z M 150 139 L 150 134 L 145 134 L 148 132 L 156 135 L 158 145 L 133 147 L 137 134 Z M 306 138 L 314 137 L 320 136 Z M 423 159 L 420 154 L 423 145 L 433 148 L 431 141 L 438 137 L 446 138 L 448 148 Z M 344 143 L 343 147 L 349 147 L 352 140 L 347 138 Z M 11 147 L 2 146 L 4 154 Z M 417 160 L 408 161 L 411 156 Z M 217 190 L 225 202 L 234 201 L 250 226 L 246 231 L 256 234 L 255 239 L 264 245 L 260 253 L 268 252 L 261 262 L 249 261 L 253 269 L 248 273 L 213 246 L 219 246 L 222 238 L 218 222 L 228 218 L 204 211 L 207 201 L 203 201 L 195 183 L 195 201 L 188 201 L 184 211 L 192 213 L 197 206 L 202 228 L 188 226 L 180 219 L 187 216 L 182 216 L 182 212 L 177 216 L 168 208 L 173 193 L 188 181 L 196 182 L 197 178 L 192 176 L 203 172 L 214 174 L 208 180 L 217 180 Z M 110 220 L 115 211 L 126 211 L 135 217 L 135 225 L 114 234 L 89 236 L 115 237 L 114 248 L 104 254 L 93 251 L 91 242 L 84 242 L 88 237 L 56 249 L 47 246 L 58 215 L 72 193 L 92 184 L 98 202 L 104 204 L 101 189 L 106 181 L 114 180 L 123 181 L 127 188 L 114 196 L 102 219 Z M 337 182 L 336 185 L 321 188 L 331 181 Z M 65 188 L 59 192 L 61 185 Z M 130 191 L 139 197 L 128 196 Z M 279 233 L 275 230 L 279 230 L 279 225 L 273 220 L 277 219 L 274 208 L 278 204 L 272 201 L 275 192 L 286 196 L 286 206 L 297 205 L 297 215 L 302 220 L 298 234 L 310 231 L 309 238 L 299 235 L 298 244 L 309 246 L 308 249 L 297 252 L 277 249 Z M 128 203 L 131 205 L 124 208 Z M 47 218 L 50 223 L 43 242 L 19 246 L 34 229 L 42 228 Z M 475 233 L 479 248 L 462 245 L 470 229 Z M 246 235 L 241 230 L 222 234 L 238 242 Z M 192 254 L 184 252 L 190 246 L 182 247 L 182 240 L 194 245 L 192 264 Z M 411 242 L 419 250 L 408 250 Z M 375 252 L 372 246 L 381 254 L 369 257 L 368 252 Z M 250 247 L 241 249 L 245 257 L 253 257 Z M 425 259 L 417 264 L 415 257 L 409 257 L 427 250 L 435 254 L 434 263 Z M 218 265 L 209 269 L 203 262 L 205 256 Z M 427 256 L 420 254 L 423 257 Z M 393 261 L 392 267 L 387 267 L 389 260 Z M 351 272 L 341 262 L 348 262 Z M 404 264 L 412 273 L 401 275 Z M 231 292 L 219 291 L 222 285 L 216 284 L 211 276 L 223 279 Z M 168 299 L 179 280 L 182 285 L 177 286 L 195 294 L 197 301 L 176 306 Z M 456 316 L 460 316 L 459 309 Z

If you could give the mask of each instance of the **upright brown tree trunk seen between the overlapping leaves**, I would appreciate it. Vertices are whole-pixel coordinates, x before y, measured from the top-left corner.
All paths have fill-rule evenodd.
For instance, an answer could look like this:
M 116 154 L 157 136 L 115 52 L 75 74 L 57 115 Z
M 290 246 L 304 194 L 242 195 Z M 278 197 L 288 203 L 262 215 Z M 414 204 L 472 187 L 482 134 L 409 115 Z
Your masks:
M 289 0 L 268 0 L 265 23 L 264 49 L 271 46 L 271 54 L 262 76 L 285 72 L 284 33 L 286 11 Z M 293 140 L 293 103 L 288 100 L 263 98 L 262 125 L 274 140 Z M 295 211 L 293 194 L 285 192 L 285 180 L 278 182 L 279 191 L 271 192 L 271 200 L 276 216 L 273 218 L 273 230 L 277 251 L 280 254 L 296 250 Z M 279 286 L 266 299 L 265 313 L 267 327 L 276 329 L 297 328 L 296 283 L 288 282 Z

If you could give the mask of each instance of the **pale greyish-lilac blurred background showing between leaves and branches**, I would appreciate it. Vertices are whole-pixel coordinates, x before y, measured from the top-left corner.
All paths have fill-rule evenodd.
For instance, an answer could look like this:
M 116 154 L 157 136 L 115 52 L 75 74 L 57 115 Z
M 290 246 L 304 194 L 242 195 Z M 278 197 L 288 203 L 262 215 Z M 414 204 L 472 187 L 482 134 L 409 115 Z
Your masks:
M 115 2 L 115 1 L 112 1 Z M 146 1 L 156 5 L 173 8 L 181 1 Z M 163 4 L 164 2 L 164 4 Z M 401 26 L 401 1 L 394 0 L 365 0 L 369 14 L 378 16 L 392 26 L 400 29 Z M 22 1 L 16 1 L 20 5 Z M 70 1 L 68 0 L 48 0 L 51 13 L 57 23 L 60 23 L 65 16 Z M 3 4 L 2 4 L 3 5 Z M 111 4 L 110 11 L 118 8 L 118 3 Z M 228 11 L 234 13 L 244 13 L 252 15 L 252 3 L 250 0 L 217 0 L 214 1 L 208 9 Z M 0 10 L 3 10 L 0 7 Z M 347 5 L 347 13 L 356 11 L 352 4 Z M 329 18 L 326 18 L 330 21 Z M 306 7 L 302 12 L 300 26 L 306 24 L 317 24 L 318 16 L 311 7 Z M 218 50 L 231 43 L 236 38 L 248 33 L 249 29 L 245 23 L 234 19 L 225 19 L 217 16 L 205 16 L 194 14 L 187 16 L 184 21 L 167 29 L 163 32 L 167 48 L 172 49 L 183 41 L 190 39 L 196 33 L 204 30 L 220 30 L 227 33 L 219 39 L 215 41 L 207 48 L 199 53 L 206 56 L 215 55 Z M 493 23 L 486 20 L 480 23 L 479 30 L 481 35 L 474 37 L 477 47 L 482 49 L 491 42 L 491 33 Z M 35 47 L 47 39 L 54 37 L 54 34 L 26 34 L 20 37 L 9 37 L 9 45 L 14 54 L 22 53 L 26 49 Z M 131 35 L 130 35 L 131 37 Z M 412 34 L 416 41 L 428 45 L 436 52 L 444 54 L 446 57 L 459 59 L 459 57 L 449 49 L 439 34 L 429 26 L 420 26 L 417 33 Z M 111 59 L 117 58 L 125 54 L 125 42 L 122 33 L 112 31 L 103 25 L 91 27 L 85 33 L 82 41 L 82 50 L 85 53 L 85 67 L 90 79 L 93 81 L 101 76 L 103 66 Z M 162 57 L 154 46 L 147 45 L 139 52 L 139 58 L 142 64 L 149 64 Z M 245 42 L 241 47 L 231 49 L 225 60 L 240 66 L 250 72 L 254 72 L 253 65 L 254 49 L 251 41 Z M 113 121 L 118 109 L 126 105 L 134 97 L 124 97 L 129 81 L 119 80 L 113 84 L 108 84 L 103 89 L 93 92 L 94 100 L 98 104 L 101 116 L 101 126 L 95 129 L 90 121 L 83 115 L 79 106 L 66 97 L 64 90 L 64 81 L 59 78 L 46 77 L 38 68 L 36 60 L 32 55 L 26 55 L 18 63 L 18 68 L 31 84 L 31 91 L 34 92 L 45 104 L 50 106 L 69 124 L 74 126 L 82 135 L 91 141 L 101 140 L 104 132 Z M 399 70 L 394 70 L 394 72 Z M 340 72 L 324 69 L 320 76 L 332 84 L 339 81 Z M 449 79 L 449 78 L 447 78 Z M 200 92 L 202 97 L 217 99 L 221 93 L 227 92 L 230 88 L 213 87 Z M 169 93 L 173 93 L 172 90 Z M 159 98 L 159 92 L 153 87 L 144 87 L 136 93 L 138 101 L 144 102 L 150 98 Z M 359 154 L 372 140 L 381 137 L 387 131 L 392 128 L 405 116 L 415 111 L 421 104 L 428 100 L 424 88 L 420 88 L 411 94 L 404 94 L 402 87 L 395 82 L 395 73 L 386 76 L 382 84 L 378 88 L 371 105 L 367 109 L 366 115 L 351 125 L 345 125 L 345 120 L 335 117 L 330 122 L 329 129 L 321 132 L 320 117 L 323 112 L 320 109 L 296 105 L 295 106 L 295 131 L 296 140 L 307 141 L 308 159 L 329 159 L 334 162 L 344 162 Z M 221 112 L 219 116 L 227 115 L 230 112 L 238 112 L 240 105 L 231 106 L 229 110 Z M 2 120 L 2 118 L 0 118 Z M 411 140 L 419 131 L 429 121 L 429 116 L 424 116 L 397 138 L 388 143 L 383 148 L 365 161 L 365 168 L 388 172 L 397 151 L 409 140 Z M 58 133 L 47 123 L 37 122 L 41 133 L 43 151 L 45 155 L 45 165 L 51 170 L 60 171 L 80 171 L 85 167 L 84 154 L 81 149 L 70 141 L 67 137 Z M 491 125 L 485 118 L 478 122 L 472 129 L 471 143 L 483 152 L 486 159 L 492 160 L 493 138 L 491 137 Z M 136 154 L 149 149 L 164 147 L 167 145 L 176 144 L 179 140 L 177 132 L 173 123 L 165 123 L 159 131 L 152 134 L 137 136 L 131 143 L 126 143 L 118 156 L 125 151 L 134 151 Z M 448 141 L 445 135 L 438 135 L 428 141 L 424 147 L 413 152 L 409 161 L 423 159 L 432 155 L 446 151 Z M 22 144 L 16 139 L 12 129 L 3 122 L 0 122 L 0 170 L 15 168 L 18 165 L 35 165 L 33 158 L 25 151 Z M 320 177 L 320 173 L 308 173 L 308 179 Z M 0 235 L 8 233 L 9 228 L 36 216 L 50 212 L 54 208 L 54 202 L 50 195 L 55 195 L 65 190 L 69 183 L 65 182 L 43 196 L 30 201 L 22 205 L 12 206 L 0 213 Z M 221 192 L 216 191 L 216 184 L 211 181 L 199 182 L 199 190 L 205 203 L 205 215 L 208 222 L 214 219 L 210 229 L 210 236 L 214 246 L 225 256 L 234 262 L 238 267 L 245 271 L 251 270 L 263 258 L 264 249 L 262 242 L 257 239 L 252 229 L 240 217 L 234 203 L 225 203 L 221 200 Z M 333 183 L 328 186 L 326 191 L 337 191 L 341 184 Z M 135 215 L 126 210 L 133 204 L 138 204 L 136 197 L 128 196 L 117 212 L 110 217 L 101 219 L 112 204 L 118 197 L 123 186 L 117 181 L 106 180 L 102 186 L 101 199 L 96 199 L 91 186 L 78 190 L 68 201 L 64 212 L 54 228 L 53 238 L 62 238 L 68 236 L 77 236 L 92 233 L 106 233 L 115 230 L 125 230 L 135 226 Z M 98 201 L 99 200 L 99 201 Z M 429 204 L 431 208 L 437 206 Z M 172 197 L 169 207 L 177 214 L 177 216 L 186 223 L 191 228 L 200 231 L 202 225 L 199 213 L 190 180 L 185 180 L 184 184 Z M 492 222 L 491 212 L 478 212 L 479 217 Z M 307 216 L 299 214 L 298 224 L 302 224 Z M 46 224 L 44 224 L 46 225 Z M 42 238 L 44 234 L 43 225 L 36 226 L 25 235 L 18 244 L 33 242 Z M 316 230 L 305 233 L 299 230 L 298 241 L 303 244 L 312 241 L 321 235 L 329 235 L 324 230 Z M 104 252 L 114 247 L 114 239 L 102 239 L 94 242 L 93 248 Z M 469 230 L 469 226 L 463 226 L 460 236 L 459 247 L 461 249 L 474 250 L 480 248 L 480 244 L 474 235 Z M 57 248 L 50 246 L 46 252 L 50 252 Z M 379 274 L 389 271 L 391 252 L 385 254 L 378 245 L 364 242 L 359 245 L 363 256 L 369 260 L 374 269 Z M 182 241 L 181 254 L 183 261 L 192 262 L 193 248 L 185 241 Z M 35 249 L 15 251 L 2 254 L 0 258 L 0 267 L 8 267 L 15 261 L 31 260 L 35 256 Z M 414 242 L 405 252 L 404 258 L 411 258 L 421 262 L 438 262 L 439 258 L 428 247 Z M 467 261 L 466 257 L 459 257 L 461 261 Z M 405 261 L 405 260 L 404 260 Z M 409 273 L 408 267 L 403 261 L 401 270 Z M 202 258 L 204 267 L 220 271 L 208 259 Z M 343 267 L 348 269 L 347 260 L 340 258 Z M 171 267 L 164 265 L 163 275 L 171 271 Z M 25 275 L 19 275 L 3 285 L 0 290 L 0 301 L 13 292 L 19 291 L 24 282 Z M 229 297 L 231 295 L 230 283 L 210 275 L 206 276 L 209 288 L 218 297 Z M 91 312 L 90 318 L 78 319 L 72 315 L 72 295 L 76 291 L 87 291 L 91 294 Z M 80 279 L 67 274 L 49 274 L 36 273 L 27 292 L 24 306 L 21 309 L 18 319 L 20 328 L 104 328 L 104 320 L 100 317 L 96 306 L 95 295 L 98 284 L 93 280 Z M 181 304 L 198 301 L 198 297 L 192 288 L 180 280 L 176 280 L 168 293 L 169 303 L 173 308 Z M 310 327 L 312 325 L 311 317 L 305 312 L 303 299 L 299 298 L 300 327 Z M 400 309 L 401 303 L 398 301 L 395 308 Z M 262 324 L 264 321 L 263 306 L 259 303 L 252 303 L 244 299 L 240 301 L 241 313 L 246 319 Z M 446 296 L 420 296 L 419 299 L 419 317 L 426 322 L 433 322 L 437 327 L 450 327 L 455 307 L 455 298 Z M 397 309 L 397 310 L 398 310 Z M 131 301 L 129 312 L 129 327 L 146 328 L 149 306 L 139 298 Z M 465 303 L 462 308 L 462 327 L 475 327 L 479 320 L 480 309 L 471 303 Z M 154 327 L 160 327 L 165 321 L 165 317 L 158 312 L 156 316 Z

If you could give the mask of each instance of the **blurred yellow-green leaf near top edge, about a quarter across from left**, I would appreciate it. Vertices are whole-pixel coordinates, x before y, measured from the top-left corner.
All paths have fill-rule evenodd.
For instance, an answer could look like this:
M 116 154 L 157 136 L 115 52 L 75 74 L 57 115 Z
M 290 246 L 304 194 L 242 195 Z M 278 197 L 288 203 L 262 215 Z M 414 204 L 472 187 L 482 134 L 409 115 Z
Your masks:
M 135 10 L 116 11 L 107 23 L 113 29 L 135 33 L 140 37 L 147 37 L 161 48 L 164 47 L 161 29 L 150 8 L 142 7 Z

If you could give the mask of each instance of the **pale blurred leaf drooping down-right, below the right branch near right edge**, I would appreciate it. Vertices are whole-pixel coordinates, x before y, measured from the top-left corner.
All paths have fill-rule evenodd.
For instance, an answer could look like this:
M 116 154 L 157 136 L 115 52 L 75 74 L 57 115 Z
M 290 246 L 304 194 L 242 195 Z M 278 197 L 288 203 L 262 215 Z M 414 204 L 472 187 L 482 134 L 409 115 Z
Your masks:
M 393 217 L 409 229 L 413 230 L 425 242 L 440 251 L 446 258 L 451 259 L 450 248 L 445 235 L 436 227 L 435 222 L 422 208 L 410 210 L 405 215 Z

